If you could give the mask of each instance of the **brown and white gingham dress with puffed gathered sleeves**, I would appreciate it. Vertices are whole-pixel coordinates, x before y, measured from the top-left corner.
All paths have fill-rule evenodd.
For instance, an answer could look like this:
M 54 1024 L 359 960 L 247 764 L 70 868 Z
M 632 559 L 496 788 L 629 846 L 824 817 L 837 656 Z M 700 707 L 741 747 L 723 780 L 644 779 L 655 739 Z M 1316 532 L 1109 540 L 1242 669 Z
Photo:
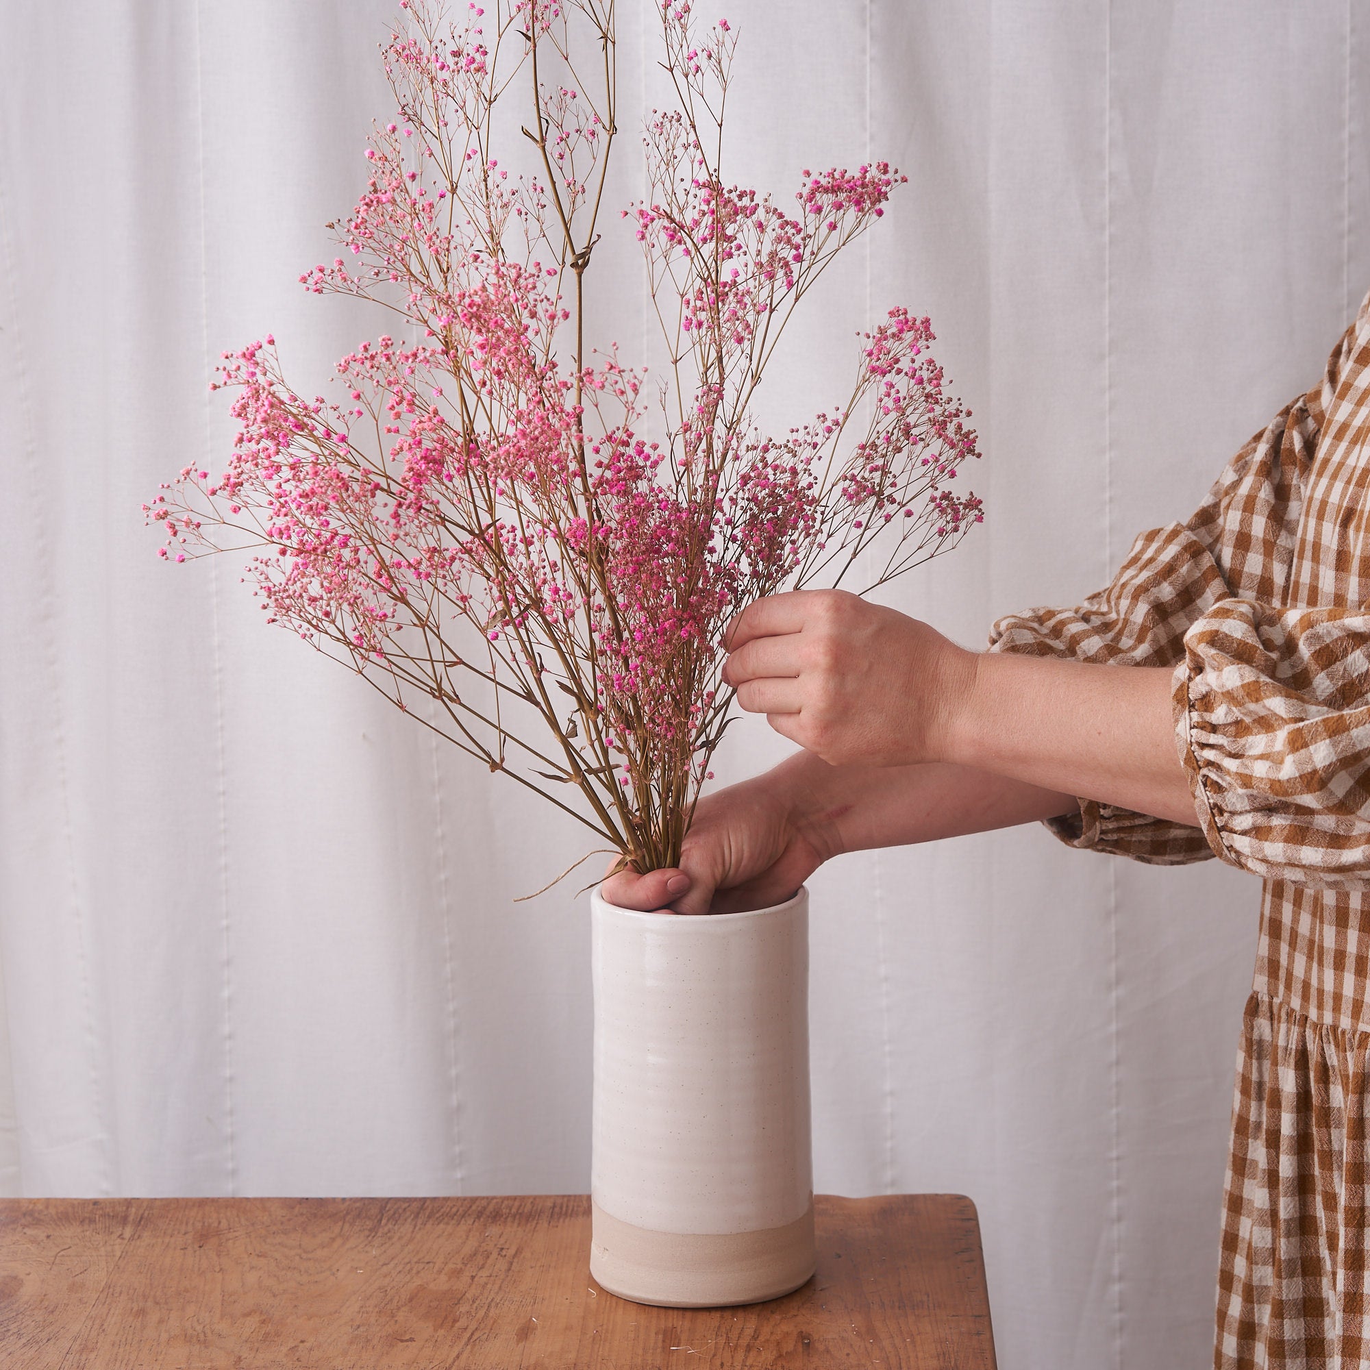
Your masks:
M 1197 827 L 1081 800 L 1051 827 L 1265 878 L 1223 1197 L 1214 1363 L 1370 1365 L 1370 296 L 1322 381 L 1186 523 L 996 651 L 1174 666 Z

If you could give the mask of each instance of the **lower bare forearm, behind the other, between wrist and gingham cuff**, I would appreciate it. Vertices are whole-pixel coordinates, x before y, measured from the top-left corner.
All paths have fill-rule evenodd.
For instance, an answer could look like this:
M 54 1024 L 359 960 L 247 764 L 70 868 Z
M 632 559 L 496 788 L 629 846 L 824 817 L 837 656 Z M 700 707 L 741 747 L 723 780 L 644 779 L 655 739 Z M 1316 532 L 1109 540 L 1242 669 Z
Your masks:
M 797 752 L 762 778 L 823 859 L 960 837 L 1073 812 L 1070 793 L 951 763 L 829 766 Z

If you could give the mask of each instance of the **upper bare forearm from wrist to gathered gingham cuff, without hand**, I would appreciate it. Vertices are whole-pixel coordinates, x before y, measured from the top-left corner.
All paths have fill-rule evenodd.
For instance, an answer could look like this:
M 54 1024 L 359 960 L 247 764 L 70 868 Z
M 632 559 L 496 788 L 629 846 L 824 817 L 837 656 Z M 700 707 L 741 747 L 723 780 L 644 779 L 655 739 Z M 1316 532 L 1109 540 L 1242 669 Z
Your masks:
M 1017 782 L 1197 825 L 1170 684 L 1169 667 L 975 655 L 940 752 Z

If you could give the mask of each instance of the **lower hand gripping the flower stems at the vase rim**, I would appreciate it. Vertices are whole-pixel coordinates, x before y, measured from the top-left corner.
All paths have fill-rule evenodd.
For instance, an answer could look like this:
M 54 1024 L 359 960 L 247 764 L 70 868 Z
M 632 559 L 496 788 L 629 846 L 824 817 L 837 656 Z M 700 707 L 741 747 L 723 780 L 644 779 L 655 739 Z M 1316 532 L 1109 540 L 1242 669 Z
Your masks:
M 837 841 L 836 826 L 810 815 L 789 784 L 793 771 L 781 766 L 704 795 L 680 866 L 645 875 L 619 871 L 604 881 L 603 896 L 619 908 L 677 914 L 733 914 L 784 903 L 836 855 Z

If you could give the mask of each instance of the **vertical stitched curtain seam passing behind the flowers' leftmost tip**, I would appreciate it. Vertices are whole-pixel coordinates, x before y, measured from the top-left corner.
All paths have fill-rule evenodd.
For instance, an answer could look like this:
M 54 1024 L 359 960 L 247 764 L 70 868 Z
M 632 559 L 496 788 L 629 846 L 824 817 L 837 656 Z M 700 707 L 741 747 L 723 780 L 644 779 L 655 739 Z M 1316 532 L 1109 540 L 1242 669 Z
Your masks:
M 214 379 L 210 353 L 210 253 L 208 219 L 204 199 L 204 41 L 200 21 L 200 3 L 195 4 L 195 101 L 196 101 L 196 155 L 200 163 L 200 321 L 204 344 L 204 451 L 206 460 L 214 443 L 210 412 L 210 382 Z M 227 1191 L 237 1193 L 238 1162 L 237 1138 L 233 1122 L 233 934 L 229 919 L 229 784 L 227 748 L 223 722 L 223 649 L 219 630 L 219 569 L 211 558 L 210 564 L 210 625 L 211 662 L 214 675 L 214 760 L 218 769 L 215 784 L 215 807 L 218 808 L 219 843 L 219 947 L 222 956 L 222 977 L 219 1006 L 223 1015 L 221 1043 L 223 1049 L 223 1147 L 227 1170 Z

